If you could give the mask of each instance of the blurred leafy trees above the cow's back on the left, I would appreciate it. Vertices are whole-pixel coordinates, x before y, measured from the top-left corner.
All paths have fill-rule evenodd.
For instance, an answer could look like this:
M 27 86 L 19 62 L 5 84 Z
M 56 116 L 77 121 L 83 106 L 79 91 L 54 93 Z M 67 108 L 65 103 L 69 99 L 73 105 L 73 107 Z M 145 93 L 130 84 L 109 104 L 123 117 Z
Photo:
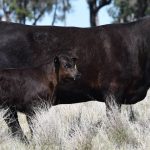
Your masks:
M 54 11 L 52 24 L 65 20 L 65 13 L 71 8 L 69 0 L 0 0 L 0 8 L 6 21 L 26 24 L 29 20 L 36 25 L 45 13 Z M 55 6 L 55 8 L 54 8 Z

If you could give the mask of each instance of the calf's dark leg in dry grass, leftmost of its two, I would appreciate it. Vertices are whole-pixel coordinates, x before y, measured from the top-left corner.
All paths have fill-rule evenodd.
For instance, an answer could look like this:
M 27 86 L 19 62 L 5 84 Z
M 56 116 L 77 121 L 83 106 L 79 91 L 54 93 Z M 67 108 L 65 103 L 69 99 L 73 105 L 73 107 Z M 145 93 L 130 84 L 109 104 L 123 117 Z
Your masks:
M 13 136 L 17 136 L 22 141 L 28 142 L 19 124 L 17 110 L 15 106 L 8 107 L 4 115 L 4 120 L 8 125 L 9 129 L 11 130 Z

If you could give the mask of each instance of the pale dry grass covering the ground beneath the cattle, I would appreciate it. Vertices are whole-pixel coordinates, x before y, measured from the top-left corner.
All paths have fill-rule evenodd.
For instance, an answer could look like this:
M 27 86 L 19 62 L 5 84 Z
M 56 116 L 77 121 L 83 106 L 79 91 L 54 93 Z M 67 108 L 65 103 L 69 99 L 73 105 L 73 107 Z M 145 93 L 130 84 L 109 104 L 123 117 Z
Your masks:
M 87 102 L 45 107 L 36 112 L 34 136 L 30 137 L 25 116 L 19 113 L 24 133 L 30 139 L 25 145 L 11 137 L 0 112 L 0 149 L 6 150 L 149 150 L 150 102 L 133 106 L 136 122 L 129 122 L 127 106 L 121 116 L 109 120 L 104 103 Z M 115 110 L 114 110 L 115 113 Z

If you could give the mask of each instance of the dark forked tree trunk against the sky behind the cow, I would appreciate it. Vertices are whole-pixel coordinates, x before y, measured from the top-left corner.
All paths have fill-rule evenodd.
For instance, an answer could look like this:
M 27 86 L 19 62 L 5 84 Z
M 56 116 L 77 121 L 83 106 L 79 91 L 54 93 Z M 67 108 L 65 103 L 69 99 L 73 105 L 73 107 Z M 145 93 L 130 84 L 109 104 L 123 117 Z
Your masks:
M 87 0 L 89 11 L 90 11 L 90 25 L 98 25 L 98 12 L 99 10 L 110 4 L 111 0 Z

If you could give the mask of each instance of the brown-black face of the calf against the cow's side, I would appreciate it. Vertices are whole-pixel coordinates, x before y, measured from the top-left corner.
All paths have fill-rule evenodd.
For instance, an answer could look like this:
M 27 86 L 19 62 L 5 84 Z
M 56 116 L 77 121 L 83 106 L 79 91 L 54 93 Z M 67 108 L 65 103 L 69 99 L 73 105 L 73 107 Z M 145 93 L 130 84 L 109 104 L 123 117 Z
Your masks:
M 78 79 L 81 74 L 77 70 L 76 58 L 64 55 L 60 57 L 55 57 L 55 68 L 59 69 L 59 79 Z

